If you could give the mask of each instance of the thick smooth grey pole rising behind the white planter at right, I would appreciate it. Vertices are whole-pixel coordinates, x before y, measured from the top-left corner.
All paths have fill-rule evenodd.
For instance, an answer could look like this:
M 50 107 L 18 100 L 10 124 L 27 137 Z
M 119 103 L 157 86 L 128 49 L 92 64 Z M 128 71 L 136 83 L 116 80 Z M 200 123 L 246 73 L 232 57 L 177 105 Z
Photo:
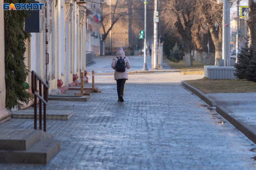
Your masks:
M 230 66 L 230 0 L 223 0 L 223 50 L 224 66 Z

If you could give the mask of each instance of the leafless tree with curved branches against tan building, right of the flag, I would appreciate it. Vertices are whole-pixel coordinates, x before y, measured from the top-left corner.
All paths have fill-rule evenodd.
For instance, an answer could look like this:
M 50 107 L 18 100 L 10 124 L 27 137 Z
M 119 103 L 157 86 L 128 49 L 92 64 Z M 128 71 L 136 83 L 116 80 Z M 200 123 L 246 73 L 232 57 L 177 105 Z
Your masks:
M 128 5 L 127 4 L 119 4 L 119 0 L 116 0 L 114 5 L 101 4 L 101 23 L 103 29 L 102 40 L 105 40 L 108 36 L 109 31 L 113 28 L 114 24 L 121 19 L 123 16 L 128 15 Z M 111 11 L 110 11 L 111 7 Z M 110 25 L 111 19 L 111 25 Z

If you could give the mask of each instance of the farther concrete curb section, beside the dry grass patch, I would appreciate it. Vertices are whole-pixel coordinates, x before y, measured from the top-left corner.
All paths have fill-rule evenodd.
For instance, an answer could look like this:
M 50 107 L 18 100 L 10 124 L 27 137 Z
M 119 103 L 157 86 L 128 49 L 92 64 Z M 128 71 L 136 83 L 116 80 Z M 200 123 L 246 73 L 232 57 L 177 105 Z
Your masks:
M 211 99 L 211 97 L 207 96 L 197 88 L 194 88 L 192 85 L 189 85 L 188 83 L 181 81 L 181 85 L 192 91 L 195 95 L 197 95 L 199 98 L 204 100 L 205 103 L 207 103 L 209 106 L 216 106 L 216 102 Z

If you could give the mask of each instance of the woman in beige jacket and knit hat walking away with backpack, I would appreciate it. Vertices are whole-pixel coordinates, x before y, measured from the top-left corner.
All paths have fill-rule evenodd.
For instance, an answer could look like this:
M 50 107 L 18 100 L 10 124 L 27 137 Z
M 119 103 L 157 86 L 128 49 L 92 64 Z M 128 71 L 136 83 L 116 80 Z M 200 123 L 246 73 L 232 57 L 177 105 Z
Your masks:
M 131 67 L 129 59 L 124 55 L 123 48 L 117 48 L 116 56 L 113 58 L 111 67 L 115 70 L 115 80 L 117 81 L 118 101 L 123 102 L 124 85 L 128 80 L 127 69 Z

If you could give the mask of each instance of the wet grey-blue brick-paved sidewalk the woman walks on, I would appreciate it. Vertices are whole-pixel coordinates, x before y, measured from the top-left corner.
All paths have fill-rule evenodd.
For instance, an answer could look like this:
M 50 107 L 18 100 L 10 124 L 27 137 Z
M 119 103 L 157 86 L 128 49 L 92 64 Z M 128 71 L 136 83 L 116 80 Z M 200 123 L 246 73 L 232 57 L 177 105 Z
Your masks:
M 88 102 L 49 101 L 49 110 L 71 110 L 74 116 L 47 120 L 47 132 L 61 140 L 61 151 L 47 165 L 0 169 L 256 168 L 255 144 L 183 86 L 127 84 L 123 103 L 117 102 L 115 84 L 96 86 L 102 93 L 91 94 Z M 33 129 L 33 120 L 13 118 L 0 128 Z

